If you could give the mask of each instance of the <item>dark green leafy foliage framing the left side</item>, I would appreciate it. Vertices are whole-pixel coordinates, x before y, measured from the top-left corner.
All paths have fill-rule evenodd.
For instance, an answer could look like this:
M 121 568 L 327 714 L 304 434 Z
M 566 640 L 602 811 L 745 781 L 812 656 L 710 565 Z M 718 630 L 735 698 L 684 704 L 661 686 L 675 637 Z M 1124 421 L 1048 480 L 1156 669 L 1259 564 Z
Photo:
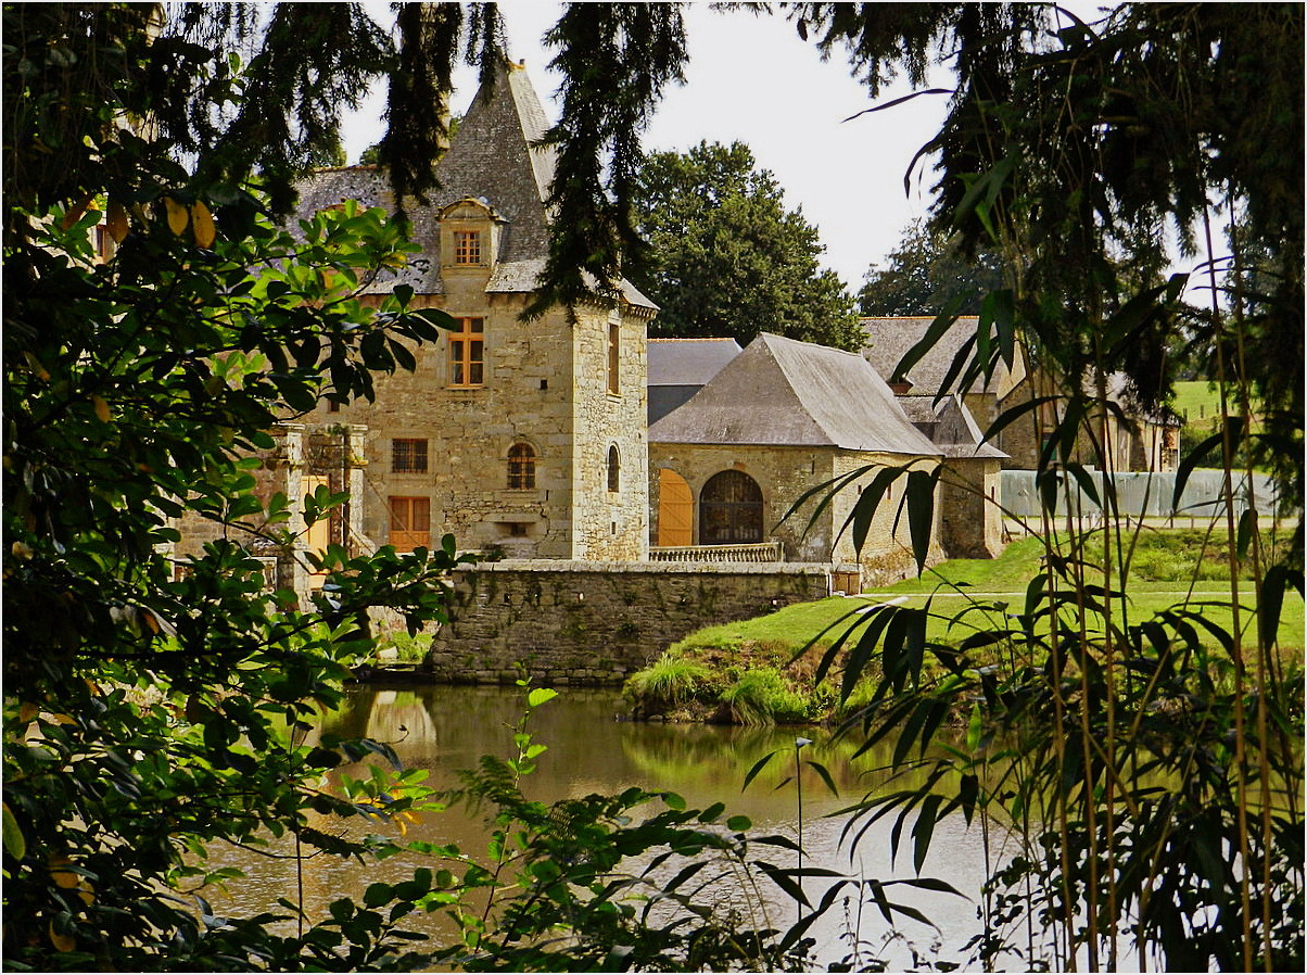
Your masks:
M 333 548 L 325 586 L 301 605 L 267 587 L 256 558 L 291 549 L 301 512 L 256 490 L 251 454 L 322 396 L 371 396 L 372 372 L 412 365 L 408 345 L 433 340 L 444 319 L 410 310 L 403 290 L 378 308 L 359 303 L 371 274 L 412 250 L 380 212 L 346 207 L 295 235 L 269 222 L 269 197 L 244 171 L 248 114 L 230 139 L 183 142 L 201 153 L 191 169 L 173 158 L 162 133 L 199 125 L 199 115 L 169 115 L 186 85 L 156 73 L 218 84 L 195 67 L 220 64 L 210 50 L 167 30 L 150 47 L 139 8 L 10 5 L 4 16 L 14 122 L 4 218 L 5 966 L 372 967 L 403 941 L 388 923 L 307 921 L 276 938 L 272 915 L 214 919 L 204 886 L 230 872 L 212 869 L 207 850 L 291 834 L 305 850 L 363 856 L 387 844 L 314 829 L 311 816 L 391 818 L 417 797 L 387 775 L 344 796 L 325 791 L 323 772 L 346 757 L 393 754 L 331 738 L 310 748 L 305 733 L 371 648 L 359 622 L 370 608 L 410 626 L 442 617 L 443 579 L 461 562 L 454 540 L 408 555 Z M 354 14 L 315 16 L 318 29 L 345 29 L 339 18 Z M 306 21 L 298 29 L 312 39 Z M 305 43 L 282 39 L 272 61 L 307 56 Z M 340 52 L 311 48 L 324 65 Z M 268 111 L 284 97 L 305 99 L 288 111 L 323 107 L 316 90 L 257 90 Z M 150 108 L 157 129 L 123 125 L 123 112 Z M 297 124 L 303 139 L 268 146 L 269 184 L 327 148 L 329 129 Z M 102 214 L 118 247 L 97 264 Z M 323 491 L 302 515 L 312 521 L 340 501 Z M 207 523 L 213 540 L 174 565 L 182 516 Z

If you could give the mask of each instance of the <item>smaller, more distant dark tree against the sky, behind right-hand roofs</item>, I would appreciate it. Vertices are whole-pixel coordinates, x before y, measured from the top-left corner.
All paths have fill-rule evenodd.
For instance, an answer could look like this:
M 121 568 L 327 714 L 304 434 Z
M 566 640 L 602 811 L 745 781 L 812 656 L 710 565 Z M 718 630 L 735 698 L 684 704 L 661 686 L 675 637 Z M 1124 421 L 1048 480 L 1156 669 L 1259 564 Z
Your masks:
M 864 315 L 935 316 L 954 299 L 961 315 L 978 315 L 980 299 L 1004 285 L 1002 265 L 988 252 L 967 260 L 957 240 L 932 230 L 924 220 L 914 221 L 887 259 L 876 265 L 857 293 Z

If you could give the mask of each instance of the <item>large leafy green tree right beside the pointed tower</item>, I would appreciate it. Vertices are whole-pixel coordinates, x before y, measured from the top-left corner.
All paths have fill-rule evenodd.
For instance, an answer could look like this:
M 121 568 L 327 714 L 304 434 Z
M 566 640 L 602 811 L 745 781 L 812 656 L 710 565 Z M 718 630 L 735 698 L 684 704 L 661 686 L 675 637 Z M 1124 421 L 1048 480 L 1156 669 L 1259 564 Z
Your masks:
M 661 308 L 655 333 L 746 345 L 775 332 L 860 348 L 852 301 L 833 271 L 817 267 L 817 229 L 782 200 L 775 178 L 740 142 L 644 161 L 633 205 L 650 271 L 633 273 Z

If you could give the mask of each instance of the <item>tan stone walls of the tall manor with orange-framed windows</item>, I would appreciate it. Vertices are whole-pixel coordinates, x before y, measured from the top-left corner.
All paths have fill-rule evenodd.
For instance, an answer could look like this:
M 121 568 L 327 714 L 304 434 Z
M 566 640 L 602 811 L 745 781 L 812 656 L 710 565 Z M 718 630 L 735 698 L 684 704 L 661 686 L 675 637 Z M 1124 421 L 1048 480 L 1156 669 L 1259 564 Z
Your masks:
M 465 549 L 520 558 L 640 559 L 648 552 L 644 446 L 646 315 L 626 307 L 620 395 L 606 391 L 609 311 L 553 308 L 519 320 L 524 294 L 485 293 L 488 269 L 451 276 L 444 295 L 414 306 L 484 319 L 484 384 L 451 388 L 448 341 L 410 345 L 413 372 L 376 376 L 376 399 L 323 404 L 310 423 L 367 427 L 363 532 L 391 536 L 389 497 L 430 498 L 431 545 L 452 533 Z M 392 469 L 395 438 L 427 442 L 427 469 Z M 529 444 L 536 485 L 508 488 L 508 451 Z M 606 490 L 606 455 L 617 446 L 621 490 Z

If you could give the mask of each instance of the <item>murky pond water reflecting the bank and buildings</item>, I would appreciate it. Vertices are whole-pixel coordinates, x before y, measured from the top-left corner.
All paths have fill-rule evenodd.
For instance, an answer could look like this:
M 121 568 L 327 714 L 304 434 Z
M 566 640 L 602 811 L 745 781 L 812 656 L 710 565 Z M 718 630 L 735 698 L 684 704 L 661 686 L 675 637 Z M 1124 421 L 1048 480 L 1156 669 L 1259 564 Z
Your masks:
M 521 711 L 523 695 L 518 689 L 358 689 L 323 731 L 388 742 L 405 766 L 427 770 L 427 783 L 442 788 L 456 785 L 459 770 L 474 767 L 484 754 L 505 758 L 515 754 L 511 729 Z M 565 690 L 541 707 L 532 719 L 532 732 L 549 750 L 541 755 L 537 771 L 523 783 L 523 791 L 532 799 L 554 801 L 593 792 L 620 792 L 630 785 L 672 789 L 690 806 L 723 801 L 728 814 L 748 816 L 758 830 L 795 836 L 796 783 L 786 779 L 795 772 L 795 736 L 800 733 L 814 738 L 814 744 L 804 749 L 802 758 L 825 765 L 840 789 L 839 797 L 831 796 L 818 775 L 804 768 L 805 864 L 880 880 L 915 876 L 910 852 L 901 856 L 897 865 L 890 863 L 889 830 L 894 817 L 878 823 L 850 850 L 840 844 L 846 818 L 830 816 L 884 782 L 876 768 L 886 763 L 887 755 L 873 750 L 853 765 L 848 761 L 852 745 L 831 745 L 823 733 L 812 729 L 639 724 L 617 720 L 621 711 L 620 695 L 606 690 Z M 771 750 L 780 754 L 741 792 L 749 768 Z M 348 771 L 356 776 L 363 774 L 361 768 Z M 341 829 L 339 821 L 315 825 Z M 427 817 L 410 827 L 408 835 L 434 843 L 456 843 L 476 852 L 485 844 L 484 825 L 464 810 Z M 288 840 L 272 847 L 271 852 L 291 856 L 294 848 Z M 297 899 L 293 860 L 269 859 L 244 850 L 233 850 L 217 859 L 223 865 L 242 867 L 250 876 L 248 881 L 237 882 L 240 886 L 231 890 L 229 899 L 216 899 L 220 912 L 252 914 L 267 910 L 278 897 Z M 306 910 L 310 916 L 322 916 L 335 898 L 361 897 L 369 884 L 399 881 L 418 865 L 421 860 L 405 861 L 404 857 L 366 867 L 315 857 L 303 870 Z M 961 818 L 940 823 L 923 876 L 946 878 L 974 898 L 984 878 L 979 831 L 966 830 Z M 809 893 L 817 891 L 810 887 Z M 919 950 L 938 938 L 945 946 L 940 958 L 965 961 L 958 949 L 976 931 L 974 901 L 908 889 L 895 889 L 893 899 L 918 907 L 938 925 L 936 932 L 907 919 L 897 924 Z M 776 891 L 772 907 L 774 919 L 784 927 L 795 910 L 792 902 Z M 856 917 L 857 906 L 852 904 L 850 911 Z M 439 933 L 437 916 L 423 923 L 429 925 L 426 931 Z M 420 924 L 413 927 L 421 929 Z M 813 931 L 823 942 L 821 962 L 836 961 L 848 950 L 840 941 L 840 917 L 831 916 L 822 928 Z M 864 912 L 860 929 L 864 940 L 876 941 L 887 925 L 873 911 L 870 915 Z M 886 957 L 895 959 L 894 967 L 904 965 L 910 951 L 903 942 L 897 942 Z

